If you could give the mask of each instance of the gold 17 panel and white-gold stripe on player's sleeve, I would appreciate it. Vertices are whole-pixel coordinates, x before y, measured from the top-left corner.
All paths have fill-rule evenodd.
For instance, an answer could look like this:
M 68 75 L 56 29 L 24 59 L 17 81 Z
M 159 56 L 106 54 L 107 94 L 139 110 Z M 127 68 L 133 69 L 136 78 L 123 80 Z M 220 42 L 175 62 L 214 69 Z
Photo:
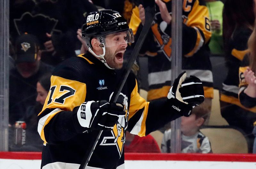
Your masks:
M 38 114 L 42 114 L 46 108 L 52 110 L 50 113 L 45 114 L 44 117 L 41 117 L 38 122 L 38 132 L 44 142 L 46 142 L 44 127 L 51 119 L 61 111 L 72 111 L 74 107 L 81 105 L 85 101 L 85 97 L 86 85 L 84 83 L 58 76 L 51 77 L 50 91 L 42 111 Z

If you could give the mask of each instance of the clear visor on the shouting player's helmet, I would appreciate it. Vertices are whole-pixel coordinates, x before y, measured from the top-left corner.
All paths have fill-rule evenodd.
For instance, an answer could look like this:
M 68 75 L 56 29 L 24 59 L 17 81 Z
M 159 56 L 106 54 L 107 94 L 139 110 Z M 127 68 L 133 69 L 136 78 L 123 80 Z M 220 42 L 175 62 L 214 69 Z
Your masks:
M 98 37 L 98 40 L 101 44 L 104 43 L 105 47 L 113 47 L 113 46 L 126 46 L 127 43 L 134 42 L 134 36 L 132 29 L 122 32 L 110 33 L 105 36 Z M 101 45 L 103 47 L 103 45 Z

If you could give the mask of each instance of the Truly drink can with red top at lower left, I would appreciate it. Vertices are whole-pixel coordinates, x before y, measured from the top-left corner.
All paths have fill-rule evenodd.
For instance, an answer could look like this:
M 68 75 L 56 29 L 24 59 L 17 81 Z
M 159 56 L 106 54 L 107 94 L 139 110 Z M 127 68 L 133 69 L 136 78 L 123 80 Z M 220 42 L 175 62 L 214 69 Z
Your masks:
M 14 144 L 24 145 L 26 143 L 26 122 L 16 121 L 14 127 Z

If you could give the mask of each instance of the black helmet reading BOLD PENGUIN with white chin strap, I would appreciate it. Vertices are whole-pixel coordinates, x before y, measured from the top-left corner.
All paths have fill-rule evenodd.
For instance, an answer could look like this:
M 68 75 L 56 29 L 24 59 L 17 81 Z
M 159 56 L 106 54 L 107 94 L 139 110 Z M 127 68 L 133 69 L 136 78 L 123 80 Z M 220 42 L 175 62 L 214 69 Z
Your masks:
M 88 47 L 88 50 L 92 55 L 99 57 L 100 60 L 105 63 L 105 44 L 106 35 L 117 32 L 125 32 L 125 41 L 122 43 L 133 43 L 134 36 L 132 29 L 129 29 L 127 20 L 117 11 L 103 10 L 88 13 L 85 17 L 84 24 L 82 25 L 82 37 Z M 96 55 L 92 51 L 91 40 L 97 38 L 100 42 L 100 47 L 103 48 L 102 55 Z M 109 68 L 109 66 L 106 64 Z M 110 68 L 111 69 L 111 68 Z

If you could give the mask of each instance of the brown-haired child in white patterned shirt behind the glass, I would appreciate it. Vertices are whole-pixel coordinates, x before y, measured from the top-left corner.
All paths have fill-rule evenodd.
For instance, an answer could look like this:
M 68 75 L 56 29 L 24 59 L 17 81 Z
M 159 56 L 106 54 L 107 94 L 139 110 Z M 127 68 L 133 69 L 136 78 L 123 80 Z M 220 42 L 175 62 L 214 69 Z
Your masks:
M 182 153 L 212 153 L 211 143 L 208 137 L 199 131 L 209 115 L 209 110 L 204 104 L 202 103 L 193 108 L 192 114 L 189 117 L 181 117 Z M 171 152 L 171 129 L 164 132 L 161 152 Z

